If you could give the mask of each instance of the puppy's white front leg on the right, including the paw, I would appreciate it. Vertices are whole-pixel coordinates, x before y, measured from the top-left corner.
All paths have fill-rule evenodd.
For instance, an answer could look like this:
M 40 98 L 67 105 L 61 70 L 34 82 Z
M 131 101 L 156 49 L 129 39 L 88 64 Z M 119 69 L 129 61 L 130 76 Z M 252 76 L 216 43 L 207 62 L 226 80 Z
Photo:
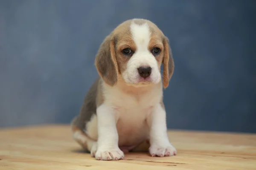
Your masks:
M 151 156 L 173 156 L 177 154 L 175 147 L 169 142 L 166 127 L 166 111 L 157 104 L 148 120 L 150 126 L 150 148 Z

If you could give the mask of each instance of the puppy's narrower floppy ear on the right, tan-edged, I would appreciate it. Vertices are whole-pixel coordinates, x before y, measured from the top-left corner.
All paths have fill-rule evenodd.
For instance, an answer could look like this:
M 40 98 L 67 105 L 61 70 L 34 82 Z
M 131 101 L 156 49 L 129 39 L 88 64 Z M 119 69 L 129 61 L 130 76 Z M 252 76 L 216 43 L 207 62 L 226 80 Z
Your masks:
M 172 49 L 170 48 L 169 39 L 167 37 L 163 38 L 163 46 L 163 87 L 167 88 L 174 71 Z

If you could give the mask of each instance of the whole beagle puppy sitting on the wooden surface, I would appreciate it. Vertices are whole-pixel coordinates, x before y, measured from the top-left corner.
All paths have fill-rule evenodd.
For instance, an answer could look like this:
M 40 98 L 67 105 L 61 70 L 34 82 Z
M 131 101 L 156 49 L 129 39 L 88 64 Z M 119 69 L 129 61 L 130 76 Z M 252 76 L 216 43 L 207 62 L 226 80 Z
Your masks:
M 149 20 L 127 20 L 102 42 L 95 66 L 99 77 L 71 122 L 73 139 L 97 160 L 129 151 L 176 155 L 163 104 L 174 62 L 163 32 Z

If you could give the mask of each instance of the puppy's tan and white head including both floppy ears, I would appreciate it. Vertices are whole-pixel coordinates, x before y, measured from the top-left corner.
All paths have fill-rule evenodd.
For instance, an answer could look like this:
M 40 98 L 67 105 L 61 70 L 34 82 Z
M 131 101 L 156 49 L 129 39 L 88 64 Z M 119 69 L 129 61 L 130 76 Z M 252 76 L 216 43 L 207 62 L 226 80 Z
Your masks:
M 102 42 L 95 65 L 111 86 L 118 79 L 134 86 L 157 84 L 162 76 L 163 87 L 167 88 L 174 71 L 168 38 L 154 23 L 143 19 L 117 26 Z

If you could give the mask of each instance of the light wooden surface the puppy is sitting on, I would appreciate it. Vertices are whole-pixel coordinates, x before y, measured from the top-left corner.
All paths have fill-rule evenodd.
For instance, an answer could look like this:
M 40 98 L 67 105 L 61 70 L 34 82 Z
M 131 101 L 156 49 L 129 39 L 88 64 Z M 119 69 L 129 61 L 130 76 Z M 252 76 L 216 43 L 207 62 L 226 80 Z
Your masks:
M 0 170 L 256 170 L 256 134 L 171 131 L 177 156 L 128 153 L 97 161 L 73 141 L 69 126 L 0 130 Z

